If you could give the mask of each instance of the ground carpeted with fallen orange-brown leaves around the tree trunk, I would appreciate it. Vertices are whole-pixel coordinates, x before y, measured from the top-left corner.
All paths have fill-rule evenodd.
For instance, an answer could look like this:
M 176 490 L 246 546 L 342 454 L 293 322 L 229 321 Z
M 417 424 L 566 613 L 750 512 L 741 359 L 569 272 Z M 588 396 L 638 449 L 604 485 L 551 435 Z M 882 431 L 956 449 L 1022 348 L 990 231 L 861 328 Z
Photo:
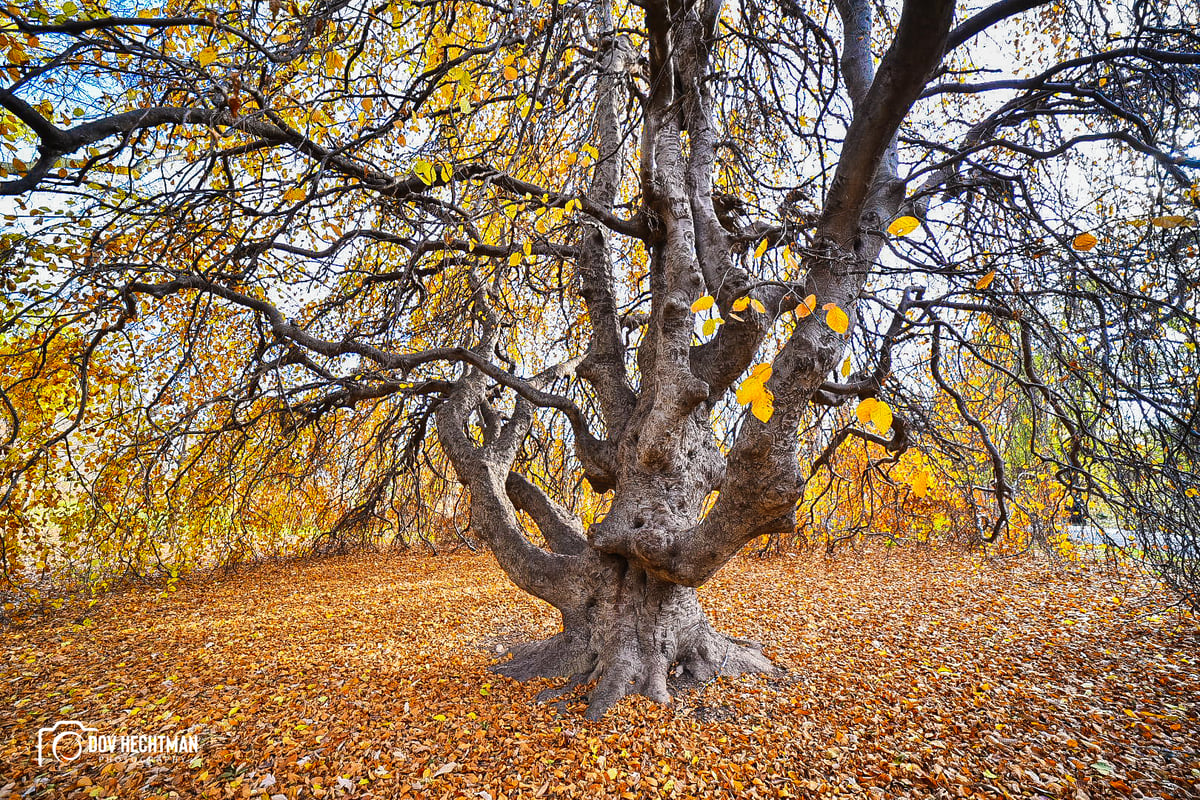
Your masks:
M 353 557 L 0 633 L 0 798 L 1200 796 L 1200 632 L 1132 577 L 1032 558 L 744 558 L 702 589 L 778 678 L 600 722 L 487 672 L 551 609 L 487 557 Z M 199 734 L 37 765 L 37 730 Z

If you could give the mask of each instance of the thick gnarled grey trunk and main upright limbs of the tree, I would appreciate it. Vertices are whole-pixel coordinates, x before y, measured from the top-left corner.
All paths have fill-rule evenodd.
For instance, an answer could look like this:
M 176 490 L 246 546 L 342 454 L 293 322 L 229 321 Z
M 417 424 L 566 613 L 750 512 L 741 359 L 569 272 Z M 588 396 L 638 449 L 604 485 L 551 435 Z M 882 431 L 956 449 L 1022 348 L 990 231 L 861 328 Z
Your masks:
M 566 678 L 552 696 L 589 686 L 592 717 L 630 693 L 668 702 L 672 674 L 706 681 L 774 669 L 757 645 L 713 628 L 695 588 L 748 541 L 793 524 L 803 489 L 796 431 L 845 347 L 816 314 L 800 320 L 773 362 L 774 416 L 767 423 L 748 419 L 728 456 L 722 455 L 710 423 L 713 405 L 791 306 L 788 295 L 754 287 L 734 258 L 739 234 L 721 222 L 714 205 L 716 136 L 706 76 L 719 8 L 716 1 L 644 6 L 649 92 L 640 179 L 650 312 L 636 354 L 636 387 L 626 374 L 613 288 L 608 237 L 614 229 L 599 223 L 612 215 L 620 184 L 625 137 L 617 108 L 624 102 L 623 72 L 636 54 L 626 38 L 612 34 L 598 48 L 594 130 L 604 157 L 587 192 L 594 213 L 582 225 L 576 260 L 592 330 L 575 374 L 593 390 L 605 433 L 593 434 L 578 409 L 542 393 L 536 378 L 509 380 L 518 395 L 510 419 L 491 408 L 490 379 L 499 375 L 488 371 L 486 355 L 499 332 L 481 281 L 475 291 L 479 344 L 460 359 L 464 373 L 438 409 L 442 445 L 470 492 L 472 527 L 514 583 L 563 616 L 560 633 L 514 648 L 497 670 L 521 680 Z M 941 59 L 953 2 L 910 0 L 878 74 L 870 52 L 870 4 L 839 0 L 838 10 L 854 119 L 824 211 L 815 219 L 817 245 L 806 258 L 800 296 L 816 294 L 853 319 L 882 246 L 882 227 L 904 199 L 894 136 Z M 756 229 L 754 237 L 761 236 Z M 714 295 L 722 315 L 732 318 L 733 301 L 751 290 L 766 313 L 731 319 L 713 341 L 694 345 L 690 306 L 696 297 Z M 568 414 L 584 476 L 596 491 L 612 492 L 607 515 L 588 530 L 515 471 L 534 405 Z M 475 416 L 481 437 L 468 434 Z M 517 511 L 533 519 L 544 547 L 527 537 Z

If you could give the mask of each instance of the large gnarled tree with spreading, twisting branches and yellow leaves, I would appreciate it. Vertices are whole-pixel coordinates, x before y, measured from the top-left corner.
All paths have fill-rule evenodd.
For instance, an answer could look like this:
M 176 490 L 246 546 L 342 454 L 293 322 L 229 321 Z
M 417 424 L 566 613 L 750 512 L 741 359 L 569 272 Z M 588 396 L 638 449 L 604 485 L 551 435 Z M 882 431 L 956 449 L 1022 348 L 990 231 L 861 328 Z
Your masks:
M 772 669 L 696 588 L 793 530 L 838 446 L 974 458 L 997 535 L 1014 489 L 974 368 L 1079 503 L 1126 456 L 1194 458 L 1189 2 L 118 5 L 0 10 L 6 504 L 97 428 L 101 368 L 126 427 L 78 469 L 121 453 L 146 493 L 209 457 L 287 481 L 304 464 L 247 453 L 371 419 L 347 524 L 436 445 L 562 612 L 502 672 L 594 684 L 598 716 L 672 672 Z M 1165 390 L 1139 383 L 1154 337 Z M 55 374 L 42 423 L 18 396 Z

